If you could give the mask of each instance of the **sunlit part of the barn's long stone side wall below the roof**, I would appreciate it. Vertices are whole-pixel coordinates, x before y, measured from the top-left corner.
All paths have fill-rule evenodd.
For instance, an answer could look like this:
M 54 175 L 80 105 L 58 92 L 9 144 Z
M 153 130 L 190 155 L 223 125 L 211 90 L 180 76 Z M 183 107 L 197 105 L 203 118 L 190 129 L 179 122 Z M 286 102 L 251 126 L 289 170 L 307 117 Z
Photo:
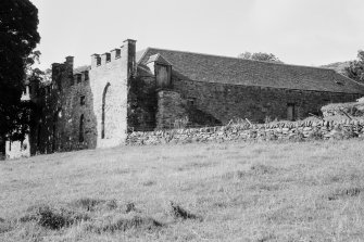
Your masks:
M 293 119 L 319 114 L 328 103 L 352 102 L 360 94 L 290 90 L 253 86 L 237 86 L 173 78 L 173 88 L 198 110 L 211 114 L 222 124 L 235 118 L 254 123 L 288 118 L 288 106 L 293 106 Z

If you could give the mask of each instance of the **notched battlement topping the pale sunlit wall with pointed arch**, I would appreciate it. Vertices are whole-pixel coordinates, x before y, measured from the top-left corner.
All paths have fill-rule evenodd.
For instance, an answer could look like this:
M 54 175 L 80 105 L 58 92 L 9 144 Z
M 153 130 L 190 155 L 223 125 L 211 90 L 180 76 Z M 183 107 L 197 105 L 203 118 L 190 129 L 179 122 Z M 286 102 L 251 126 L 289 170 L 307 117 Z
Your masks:
M 118 59 L 128 60 L 130 56 L 130 49 L 135 53 L 136 48 L 136 40 L 127 39 L 123 41 L 124 44 L 120 48 L 115 48 L 109 52 L 105 52 L 103 54 L 95 53 L 91 55 L 91 68 L 97 68 L 100 66 L 104 66 L 108 64 L 111 64 L 115 61 L 118 61 Z

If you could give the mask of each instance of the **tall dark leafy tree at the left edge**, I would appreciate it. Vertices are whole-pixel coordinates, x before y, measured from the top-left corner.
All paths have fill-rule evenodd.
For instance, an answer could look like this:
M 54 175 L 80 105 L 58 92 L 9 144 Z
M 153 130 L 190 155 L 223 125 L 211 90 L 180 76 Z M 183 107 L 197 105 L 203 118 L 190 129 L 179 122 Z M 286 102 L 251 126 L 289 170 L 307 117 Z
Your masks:
M 38 10 L 29 0 L 0 1 L 0 156 L 7 139 L 24 139 L 28 104 L 21 102 L 26 74 L 39 52 Z

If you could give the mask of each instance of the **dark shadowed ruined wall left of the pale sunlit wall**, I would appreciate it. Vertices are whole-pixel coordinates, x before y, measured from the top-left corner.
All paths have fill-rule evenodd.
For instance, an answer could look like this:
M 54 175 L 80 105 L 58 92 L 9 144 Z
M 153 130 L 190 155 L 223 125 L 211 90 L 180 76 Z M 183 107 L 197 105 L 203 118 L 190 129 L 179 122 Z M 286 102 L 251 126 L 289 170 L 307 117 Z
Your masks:
M 73 58 L 52 65 L 52 81 L 34 88 L 37 104 L 30 128 L 30 153 L 53 153 L 96 147 L 93 95 L 88 71 L 73 74 Z

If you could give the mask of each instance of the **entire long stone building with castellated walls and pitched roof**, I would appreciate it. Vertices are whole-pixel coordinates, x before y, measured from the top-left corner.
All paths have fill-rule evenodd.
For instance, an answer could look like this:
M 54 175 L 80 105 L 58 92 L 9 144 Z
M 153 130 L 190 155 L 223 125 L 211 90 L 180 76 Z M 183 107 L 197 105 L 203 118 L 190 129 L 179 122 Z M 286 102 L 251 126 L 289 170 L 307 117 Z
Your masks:
M 352 102 L 364 86 L 331 69 L 148 48 L 136 41 L 52 65 L 52 81 L 30 84 L 37 125 L 30 153 L 123 144 L 127 133 L 178 126 L 302 119 L 323 105 Z

